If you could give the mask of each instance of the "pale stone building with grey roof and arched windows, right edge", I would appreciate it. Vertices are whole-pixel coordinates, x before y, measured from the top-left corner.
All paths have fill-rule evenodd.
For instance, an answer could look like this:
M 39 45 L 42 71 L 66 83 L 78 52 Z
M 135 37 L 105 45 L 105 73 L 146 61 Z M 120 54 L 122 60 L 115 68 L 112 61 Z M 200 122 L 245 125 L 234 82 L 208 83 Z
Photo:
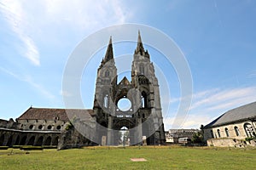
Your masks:
M 254 145 L 244 139 L 255 137 L 256 102 L 225 112 L 203 127 L 204 140 L 212 146 Z

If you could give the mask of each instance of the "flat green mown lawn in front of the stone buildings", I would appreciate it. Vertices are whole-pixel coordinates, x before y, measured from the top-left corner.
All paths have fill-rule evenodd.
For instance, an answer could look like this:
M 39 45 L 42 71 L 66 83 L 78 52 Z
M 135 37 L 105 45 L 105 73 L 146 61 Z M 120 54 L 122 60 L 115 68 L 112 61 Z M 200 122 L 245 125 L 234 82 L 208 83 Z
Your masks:
M 89 147 L 0 150 L 0 169 L 255 169 L 256 149 L 213 147 Z M 144 158 L 147 161 L 131 161 Z

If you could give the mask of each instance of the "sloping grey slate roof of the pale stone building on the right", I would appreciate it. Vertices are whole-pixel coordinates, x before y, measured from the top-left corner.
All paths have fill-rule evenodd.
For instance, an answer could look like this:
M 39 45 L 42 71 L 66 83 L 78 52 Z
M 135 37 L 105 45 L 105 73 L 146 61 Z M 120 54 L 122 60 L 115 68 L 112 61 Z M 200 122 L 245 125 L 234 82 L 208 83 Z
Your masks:
M 207 124 L 204 128 L 244 121 L 248 118 L 256 118 L 256 102 L 227 111 L 222 116 L 219 116 L 217 119 Z

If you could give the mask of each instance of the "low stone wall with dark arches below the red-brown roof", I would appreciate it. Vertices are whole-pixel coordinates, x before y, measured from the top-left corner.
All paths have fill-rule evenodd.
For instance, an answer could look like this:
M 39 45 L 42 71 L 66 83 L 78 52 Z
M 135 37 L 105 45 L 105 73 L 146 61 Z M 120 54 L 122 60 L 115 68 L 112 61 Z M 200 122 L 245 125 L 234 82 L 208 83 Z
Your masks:
M 42 128 L 39 126 L 42 125 Z M 0 146 L 57 145 L 61 130 L 66 123 L 61 121 L 21 120 L 0 121 Z M 51 126 L 49 129 L 44 128 Z

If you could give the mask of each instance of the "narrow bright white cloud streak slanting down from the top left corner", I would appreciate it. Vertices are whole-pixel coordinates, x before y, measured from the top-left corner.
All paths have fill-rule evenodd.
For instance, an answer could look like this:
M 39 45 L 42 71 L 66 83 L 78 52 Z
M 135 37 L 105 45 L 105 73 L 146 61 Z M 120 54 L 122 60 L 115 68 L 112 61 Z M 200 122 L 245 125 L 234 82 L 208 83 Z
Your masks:
M 26 32 L 26 13 L 20 4 L 20 1 L 2 1 L 0 11 L 5 20 L 8 21 L 12 31 L 20 38 L 20 53 L 29 59 L 33 65 L 40 65 L 38 48 Z M 23 47 L 22 47 L 23 46 Z

